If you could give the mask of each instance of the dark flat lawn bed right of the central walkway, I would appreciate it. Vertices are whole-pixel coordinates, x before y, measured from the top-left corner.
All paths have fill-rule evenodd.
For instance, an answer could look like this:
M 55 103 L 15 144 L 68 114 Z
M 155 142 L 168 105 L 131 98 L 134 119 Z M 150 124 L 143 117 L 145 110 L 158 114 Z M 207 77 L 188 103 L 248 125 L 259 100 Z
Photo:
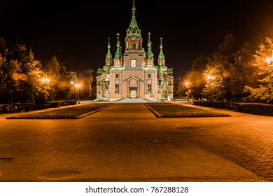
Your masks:
M 153 113 L 158 117 L 216 117 L 230 116 L 225 113 L 217 113 L 202 109 L 195 109 L 190 106 L 182 106 L 170 103 L 146 103 Z

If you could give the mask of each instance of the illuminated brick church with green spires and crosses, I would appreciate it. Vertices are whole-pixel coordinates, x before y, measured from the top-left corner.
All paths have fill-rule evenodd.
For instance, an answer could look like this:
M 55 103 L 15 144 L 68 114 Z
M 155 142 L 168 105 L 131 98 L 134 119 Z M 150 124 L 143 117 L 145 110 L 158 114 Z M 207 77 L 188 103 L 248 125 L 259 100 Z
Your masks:
M 151 34 L 148 33 L 148 50 L 142 47 L 141 29 L 137 25 L 136 7 L 132 6 L 132 20 L 126 30 L 125 51 L 122 53 L 119 34 L 115 56 L 111 55 L 109 39 L 105 65 L 97 70 L 97 99 L 116 101 L 124 98 L 142 98 L 161 101 L 173 98 L 173 70 L 165 64 L 162 38 L 160 53 L 155 64 Z

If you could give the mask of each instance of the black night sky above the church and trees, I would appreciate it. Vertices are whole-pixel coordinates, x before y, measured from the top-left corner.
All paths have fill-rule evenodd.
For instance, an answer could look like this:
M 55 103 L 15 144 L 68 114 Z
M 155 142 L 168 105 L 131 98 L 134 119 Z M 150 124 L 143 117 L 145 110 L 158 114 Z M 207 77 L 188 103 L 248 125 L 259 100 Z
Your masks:
M 94 3 L 94 4 L 93 4 Z M 175 73 L 190 70 L 200 55 L 211 55 L 233 34 L 239 43 L 260 45 L 273 35 L 273 1 L 147 1 L 135 0 L 136 18 L 147 48 L 158 57 L 160 37 L 166 63 Z M 53 55 L 71 61 L 75 71 L 102 68 L 108 38 L 116 51 L 116 34 L 123 48 L 132 18 L 132 0 L 20 1 L 1 0 L 0 35 L 19 38 L 36 59 Z

